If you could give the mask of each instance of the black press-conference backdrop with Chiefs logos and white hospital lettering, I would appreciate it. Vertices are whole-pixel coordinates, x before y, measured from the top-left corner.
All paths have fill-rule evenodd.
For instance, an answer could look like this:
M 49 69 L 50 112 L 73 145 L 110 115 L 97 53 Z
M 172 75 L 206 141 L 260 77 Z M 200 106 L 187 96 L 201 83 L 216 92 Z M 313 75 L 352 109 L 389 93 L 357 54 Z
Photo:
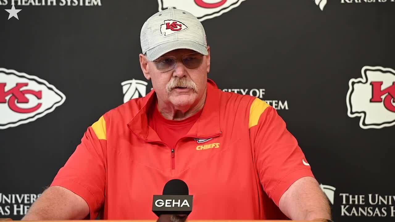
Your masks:
M 202 21 L 219 88 L 277 109 L 335 221 L 395 220 L 395 0 L 0 0 L 0 217 L 151 90 L 139 34 L 170 6 Z

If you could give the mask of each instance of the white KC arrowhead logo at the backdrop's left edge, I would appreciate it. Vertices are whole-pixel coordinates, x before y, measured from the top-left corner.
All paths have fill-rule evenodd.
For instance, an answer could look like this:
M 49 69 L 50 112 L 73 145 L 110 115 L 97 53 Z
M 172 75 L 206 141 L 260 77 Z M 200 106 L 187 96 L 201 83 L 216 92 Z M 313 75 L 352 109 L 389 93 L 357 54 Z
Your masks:
M 66 96 L 34 75 L 0 68 L 0 129 L 32 122 L 63 104 Z

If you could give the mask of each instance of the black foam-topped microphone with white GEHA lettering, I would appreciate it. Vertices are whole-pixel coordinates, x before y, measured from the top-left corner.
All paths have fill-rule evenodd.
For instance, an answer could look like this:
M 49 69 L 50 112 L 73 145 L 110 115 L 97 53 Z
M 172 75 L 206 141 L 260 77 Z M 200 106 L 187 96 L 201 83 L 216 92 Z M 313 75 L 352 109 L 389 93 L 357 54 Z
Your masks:
M 188 185 L 182 180 L 173 179 L 163 188 L 163 195 L 154 195 L 152 212 L 158 221 L 185 221 L 192 212 L 193 195 L 188 195 Z

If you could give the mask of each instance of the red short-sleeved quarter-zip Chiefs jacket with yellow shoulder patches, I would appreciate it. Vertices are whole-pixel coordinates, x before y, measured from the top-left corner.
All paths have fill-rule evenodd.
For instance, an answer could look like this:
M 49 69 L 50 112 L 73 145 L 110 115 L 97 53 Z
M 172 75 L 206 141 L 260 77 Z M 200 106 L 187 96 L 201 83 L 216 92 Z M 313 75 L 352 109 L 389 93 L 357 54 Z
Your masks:
M 90 219 L 100 213 L 102 219 L 154 220 L 152 196 L 171 179 L 185 181 L 194 196 L 188 220 L 286 218 L 278 209 L 282 194 L 314 175 L 273 107 L 222 92 L 209 79 L 199 119 L 171 151 L 147 124 L 154 94 L 130 100 L 88 127 L 51 186 L 81 196 Z

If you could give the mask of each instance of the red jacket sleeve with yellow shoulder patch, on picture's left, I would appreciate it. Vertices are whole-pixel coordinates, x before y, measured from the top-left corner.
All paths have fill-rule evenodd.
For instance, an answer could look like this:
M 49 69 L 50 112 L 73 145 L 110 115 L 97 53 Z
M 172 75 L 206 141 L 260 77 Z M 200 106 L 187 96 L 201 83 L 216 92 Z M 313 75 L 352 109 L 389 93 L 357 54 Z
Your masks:
M 83 198 L 89 206 L 90 220 L 96 219 L 104 203 L 107 166 L 106 123 L 100 117 L 85 132 L 51 186 L 62 186 Z

